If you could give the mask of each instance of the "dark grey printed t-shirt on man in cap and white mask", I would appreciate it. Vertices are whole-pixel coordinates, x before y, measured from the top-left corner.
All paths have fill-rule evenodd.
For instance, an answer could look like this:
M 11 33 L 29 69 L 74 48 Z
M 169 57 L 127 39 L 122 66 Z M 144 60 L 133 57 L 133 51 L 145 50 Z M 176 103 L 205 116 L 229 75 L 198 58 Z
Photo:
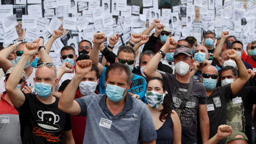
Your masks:
M 186 96 L 189 83 L 180 83 L 176 74 L 160 73 L 166 83 L 167 96 L 172 100 L 172 109 L 178 111 L 181 102 Z M 202 83 L 193 79 L 193 86 L 186 107 L 180 114 L 182 143 L 196 143 L 197 111 L 199 104 L 206 104 L 206 91 Z

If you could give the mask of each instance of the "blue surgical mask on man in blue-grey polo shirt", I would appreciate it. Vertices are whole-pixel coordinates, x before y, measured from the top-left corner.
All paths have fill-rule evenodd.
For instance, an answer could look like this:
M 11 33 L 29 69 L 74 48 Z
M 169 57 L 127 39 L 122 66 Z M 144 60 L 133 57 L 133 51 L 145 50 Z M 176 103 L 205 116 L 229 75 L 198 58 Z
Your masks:
M 128 86 L 128 85 L 127 85 Z M 126 87 L 127 87 L 126 86 Z M 125 89 L 126 89 L 125 87 Z M 121 101 L 124 97 L 123 97 L 123 93 L 125 90 L 123 87 L 117 86 L 117 85 L 111 85 L 111 84 L 107 84 L 106 87 L 106 94 L 107 97 L 113 101 L 113 102 L 117 102 L 117 101 Z M 127 92 L 127 91 L 126 91 Z M 126 93 L 125 93 L 126 94 Z M 125 95 L 124 94 L 124 95 Z

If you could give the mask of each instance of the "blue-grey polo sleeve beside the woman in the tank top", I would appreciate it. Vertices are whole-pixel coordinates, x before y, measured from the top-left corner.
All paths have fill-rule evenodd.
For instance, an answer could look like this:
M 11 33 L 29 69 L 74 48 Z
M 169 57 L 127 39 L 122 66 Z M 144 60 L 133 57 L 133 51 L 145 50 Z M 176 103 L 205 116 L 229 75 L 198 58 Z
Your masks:
M 142 142 L 150 142 L 157 139 L 155 125 L 146 105 L 143 105 L 141 110 L 139 138 Z

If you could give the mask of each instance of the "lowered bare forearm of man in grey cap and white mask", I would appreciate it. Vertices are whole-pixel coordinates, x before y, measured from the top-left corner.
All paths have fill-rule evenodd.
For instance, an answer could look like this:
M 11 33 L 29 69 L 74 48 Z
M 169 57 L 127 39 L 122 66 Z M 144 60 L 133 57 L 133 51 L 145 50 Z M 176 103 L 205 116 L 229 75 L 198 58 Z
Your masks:
M 210 134 L 210 124 L 209 124 L 209 117 L 200 117 L 200 130 L 202 135 L 202 141 L 203 143 L 209 140 L 209 134 Z

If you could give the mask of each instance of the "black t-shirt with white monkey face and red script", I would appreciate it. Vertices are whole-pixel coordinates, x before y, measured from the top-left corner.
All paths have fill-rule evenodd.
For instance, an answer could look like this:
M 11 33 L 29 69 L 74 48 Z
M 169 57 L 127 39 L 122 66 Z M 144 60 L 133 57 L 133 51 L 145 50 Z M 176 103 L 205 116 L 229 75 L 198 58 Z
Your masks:
M 64 131 L 73 129 L 71 117 L 58 109 L 59 98 L 46 105 L 35 94 L 25 94 L 25 102 L 17 109 L 22 143 L 63 143 Z

